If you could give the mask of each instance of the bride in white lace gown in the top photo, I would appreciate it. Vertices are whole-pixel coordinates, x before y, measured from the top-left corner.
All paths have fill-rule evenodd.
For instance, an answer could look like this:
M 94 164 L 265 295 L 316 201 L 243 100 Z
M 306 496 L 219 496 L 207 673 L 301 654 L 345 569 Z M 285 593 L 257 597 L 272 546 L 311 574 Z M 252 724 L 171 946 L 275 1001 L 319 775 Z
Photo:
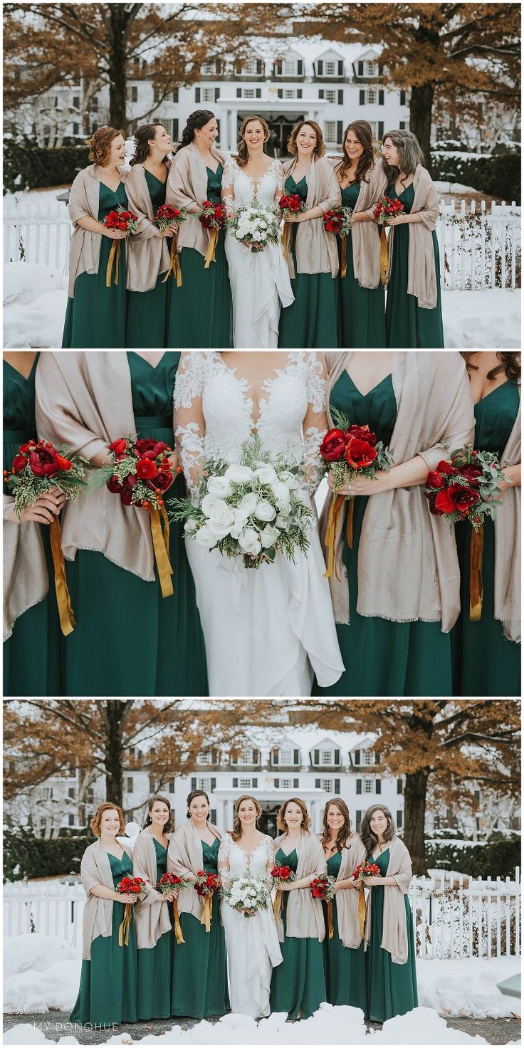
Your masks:
M 264 153 L 269 128 L 262 116 L 247 116 L 240 128 L 238 155 L 225 163 L 222 200 L 230 218 L 257 200 L 275 208 L 282 196 L 283 169 Z M 253 253 L 227 230 L 225 255 L 233 297 L 234 345 L 240 349 L 277 348 L 280 309 L 294 301 L 279 244 Z

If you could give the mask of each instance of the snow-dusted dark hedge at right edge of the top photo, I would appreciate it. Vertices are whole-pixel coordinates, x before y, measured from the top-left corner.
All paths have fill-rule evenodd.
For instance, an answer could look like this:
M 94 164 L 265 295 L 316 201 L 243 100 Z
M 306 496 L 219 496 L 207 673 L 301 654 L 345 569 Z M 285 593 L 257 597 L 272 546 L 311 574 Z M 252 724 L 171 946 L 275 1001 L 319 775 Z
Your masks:
M 506 203 L 521 202 L 521 158 L 517 153 L 460 157 L 432 152 L 431 163 L 436 181 L 461 182 L 481 193 L 501 197 Z

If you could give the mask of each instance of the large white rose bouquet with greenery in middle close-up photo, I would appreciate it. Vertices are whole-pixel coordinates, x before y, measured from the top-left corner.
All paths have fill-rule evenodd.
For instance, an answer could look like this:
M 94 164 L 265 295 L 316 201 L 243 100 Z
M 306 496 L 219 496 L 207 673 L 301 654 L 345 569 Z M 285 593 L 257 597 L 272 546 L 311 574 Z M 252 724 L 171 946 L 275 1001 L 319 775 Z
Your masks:
M 242 444 L 240 461 L 210 458 L 196 499 L 167 502 L 170 520 L 184 520 L 185 538 L 224 556 L 242 556 L 245 568 L 272 563 L 282 552 L 309 548 L 316 523 L 300 466 L 285 454 L 271 457 L 255 435 Z

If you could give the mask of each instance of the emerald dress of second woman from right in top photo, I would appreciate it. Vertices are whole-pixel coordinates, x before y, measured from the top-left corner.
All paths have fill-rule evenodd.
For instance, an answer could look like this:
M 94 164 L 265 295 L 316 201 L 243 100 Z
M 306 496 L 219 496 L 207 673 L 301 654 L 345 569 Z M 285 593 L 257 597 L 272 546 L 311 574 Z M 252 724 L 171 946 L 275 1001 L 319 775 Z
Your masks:
M 361 192 L 361 183 L 352 182 L 342 190 L 344 208 L 353 209 Z M 396 236 L 396 234 L 395 234 Z M 341 349 L 385 349 L 386 347 L 386 314 L 384 304 L 384 286 L 361 287 L 353 272 L 353 245 L 351 232 L 347 238 L 347 272 L 342 272 L 341 238 L 339 241 L 339 258 L 341 269 L 336 278 L 339 285 L 339 347 Z

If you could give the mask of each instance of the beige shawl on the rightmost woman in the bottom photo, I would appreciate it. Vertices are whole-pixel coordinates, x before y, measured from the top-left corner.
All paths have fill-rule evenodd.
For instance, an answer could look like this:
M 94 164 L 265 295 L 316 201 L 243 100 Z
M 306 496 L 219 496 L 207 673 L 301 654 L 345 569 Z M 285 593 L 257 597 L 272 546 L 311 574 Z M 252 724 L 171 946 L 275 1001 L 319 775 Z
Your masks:
M 384 923 L 383 941 L 380 946 L 391 954 L 393 964 L 406 964 L 408 962 L 408 924 L 406 920 L 405 895 L 408 894 L 411 885 L 413 871 L 411 868 L 410 853 L 400 840 L 400 837 L 393 837 L 389 844 L 390 858 L 387 877 L 394 877 L 394 885 L 386 885 L 384 891 Z M 356 894 L 356 893 L 355 893 Z M 373 887 L 369 890 L 368 907 L 366 912 L 366 927 L 364 932 L 365 946 L 367 949 L 371 934 L 371 904 L 373 899 Z

